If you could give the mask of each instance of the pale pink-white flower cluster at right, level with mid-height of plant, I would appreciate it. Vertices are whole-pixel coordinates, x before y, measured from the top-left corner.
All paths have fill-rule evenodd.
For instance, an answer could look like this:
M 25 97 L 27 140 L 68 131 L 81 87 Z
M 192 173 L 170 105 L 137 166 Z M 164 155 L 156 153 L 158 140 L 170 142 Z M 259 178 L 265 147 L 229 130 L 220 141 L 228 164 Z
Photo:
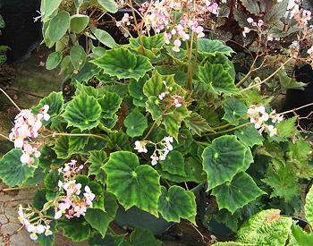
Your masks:
M 254 123 L 259 134 L 266 131 L 270 137 L 277 135 L 277 129 L 274 125 L 267 124 L 266 122 L 270 119 L 272 123 L 280 123 L 283 121 L 283 115 L 276 114 L 275 110 L 268 115 L 265 106 L 256 105 L 251 105 L 247 113 L 250 116 L 250 123 Z

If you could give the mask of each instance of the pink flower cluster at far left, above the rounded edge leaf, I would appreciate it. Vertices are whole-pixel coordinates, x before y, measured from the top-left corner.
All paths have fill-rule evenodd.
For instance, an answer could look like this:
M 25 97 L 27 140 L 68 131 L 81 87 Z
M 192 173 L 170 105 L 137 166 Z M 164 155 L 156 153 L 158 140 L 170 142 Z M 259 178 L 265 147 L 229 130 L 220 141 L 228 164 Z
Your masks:
M 28 109 L 22 109 L 19 115 L 15 116 L 14 127 L 9 134 L 9 139 L 14 142 L 14 148 L 21 148 L 21 163 L 32 165 L 34 157 L 39 157 L 39 144 L 27 139 L 38 137 L 38 131 L 42 127 L 42 120 L 48 121 L 50 115 L 47 114 L 49 106 L 45 105 L 39 109 L 39 114 L 34 115 Z M 33 157 L 32 157 L 33 156 Z

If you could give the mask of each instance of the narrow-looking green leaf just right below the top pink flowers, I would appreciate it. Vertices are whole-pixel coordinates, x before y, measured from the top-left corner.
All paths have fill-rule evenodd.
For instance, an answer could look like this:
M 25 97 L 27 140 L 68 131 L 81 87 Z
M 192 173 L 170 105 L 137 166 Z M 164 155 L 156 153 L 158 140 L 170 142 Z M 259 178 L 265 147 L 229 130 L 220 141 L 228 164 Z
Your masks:
M 203 55 L 216 55 L 218 53 L 231 55 L 234 53 L 231 47 L 227 47 L 219 40 L 209 40 L 207 38 L 198 39 L 199 52 Z

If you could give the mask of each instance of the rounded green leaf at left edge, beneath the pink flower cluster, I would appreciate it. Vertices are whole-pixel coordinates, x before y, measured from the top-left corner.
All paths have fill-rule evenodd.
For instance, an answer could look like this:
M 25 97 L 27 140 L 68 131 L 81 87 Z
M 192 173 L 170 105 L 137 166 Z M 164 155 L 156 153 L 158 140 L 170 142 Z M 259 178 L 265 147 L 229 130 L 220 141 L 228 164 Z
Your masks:
M 34 175 L 35 168 L 21 163 L 21 155 L 21 149 L 13 148 L 0 159 L 0 179 L 10 187 L 21 186 Z M 33 165 L 38 165 L 38 158 Z

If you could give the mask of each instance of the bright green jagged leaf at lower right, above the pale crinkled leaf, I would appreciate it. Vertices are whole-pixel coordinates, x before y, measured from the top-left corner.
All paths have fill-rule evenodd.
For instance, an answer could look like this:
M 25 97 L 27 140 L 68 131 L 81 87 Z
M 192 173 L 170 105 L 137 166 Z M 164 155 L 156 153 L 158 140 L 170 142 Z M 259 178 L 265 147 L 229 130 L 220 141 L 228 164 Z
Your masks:
M 289 201 L 300 192 L 298 178 L 293 174 L 291 165 L 283 166 L 275 159 L 273 164 L 268 166 L 266 179 L 262 182 L 273 188 L 271 198 L 281 197 Z

